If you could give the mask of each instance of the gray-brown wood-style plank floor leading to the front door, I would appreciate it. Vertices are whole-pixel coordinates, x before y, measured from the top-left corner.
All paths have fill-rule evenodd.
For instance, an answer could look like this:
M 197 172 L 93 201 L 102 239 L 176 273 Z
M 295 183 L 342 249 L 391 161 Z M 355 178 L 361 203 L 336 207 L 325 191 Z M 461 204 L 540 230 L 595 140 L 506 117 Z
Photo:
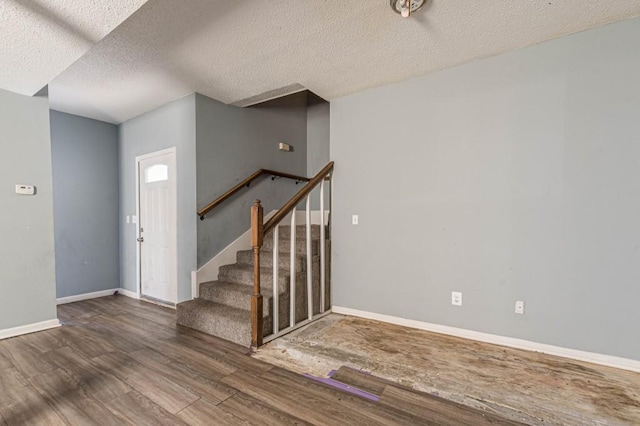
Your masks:
M 1 425 L 513 424 L 393 384 L 378 384 L 379 402 L 348 394 L 123 296 L 58 317 L 62 327 L 0 341 Z

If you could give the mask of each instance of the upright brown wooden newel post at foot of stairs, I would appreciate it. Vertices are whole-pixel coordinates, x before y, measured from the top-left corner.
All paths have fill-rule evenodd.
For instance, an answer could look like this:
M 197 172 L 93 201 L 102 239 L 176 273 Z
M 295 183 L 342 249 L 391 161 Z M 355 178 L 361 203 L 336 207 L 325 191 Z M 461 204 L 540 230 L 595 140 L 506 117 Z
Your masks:
M 264 240 L 264 218 L 260 200 L 251 206 L 251 245 L 253 246 L 253 295 L 251 296 L 251 345 L 262 346 L 264 319 L 260 294 L 260 248 Z

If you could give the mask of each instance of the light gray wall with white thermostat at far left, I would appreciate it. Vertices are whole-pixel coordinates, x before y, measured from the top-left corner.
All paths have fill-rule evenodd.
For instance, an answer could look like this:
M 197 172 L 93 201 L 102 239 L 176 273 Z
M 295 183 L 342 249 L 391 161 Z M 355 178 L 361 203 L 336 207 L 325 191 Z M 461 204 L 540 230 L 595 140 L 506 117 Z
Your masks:
M 49 100 L 0 90 L 0 330 L 56 318 Z M 17 195 L 16 184 L 37 194 Z

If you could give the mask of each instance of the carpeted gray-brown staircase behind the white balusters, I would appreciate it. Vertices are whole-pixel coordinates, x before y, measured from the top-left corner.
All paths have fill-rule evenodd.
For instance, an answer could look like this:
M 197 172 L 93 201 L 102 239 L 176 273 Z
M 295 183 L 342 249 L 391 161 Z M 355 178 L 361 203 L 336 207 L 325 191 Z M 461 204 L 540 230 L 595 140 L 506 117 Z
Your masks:
M 278 321 L 279 330 L 290 326 L 291 227 L 280 226 L 278 234 Z M 327 246 L 330 244 L 326 241 Z M 327 251 L 328 252 L 328 251 Z M 313 314 L 320 313 L 320 225 L 311 226 Z M 308 318 L 306 226 L 296 227 L 295 322 Z M 326 262 L 326 271 L 330 271 Z M 260 256 L 264 336 L 273 330 L 273 234 L 267 234 Z M 327 277 L 329 274 L 327 272 Z M 325 300 L 330 298 L 327 278 Z M 251 295 L 253 251 L 237 252 L 236 263 L 222 266 L 218 280 L 200 284 L 200 297 L 177 305 L 177 322 L 243 346 L 251 345 Z M 327 302 L 328 303 L 328 302 Z M 326 307 L 328 308 L 328 307 Z M 325 308 L 325 309 L 326 309 Z

